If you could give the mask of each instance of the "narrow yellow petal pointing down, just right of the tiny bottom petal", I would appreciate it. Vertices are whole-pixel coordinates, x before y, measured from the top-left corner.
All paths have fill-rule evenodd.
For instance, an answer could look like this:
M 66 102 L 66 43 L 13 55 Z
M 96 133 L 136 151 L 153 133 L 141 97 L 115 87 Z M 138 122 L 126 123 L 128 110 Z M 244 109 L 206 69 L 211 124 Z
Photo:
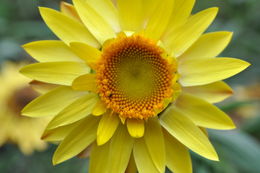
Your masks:
M 155 167 L 159 172 L 164 173 L 166 166 L 165 145 L 162 128 L 157 117 L 149 118 L 146 123 L 144 141 Z

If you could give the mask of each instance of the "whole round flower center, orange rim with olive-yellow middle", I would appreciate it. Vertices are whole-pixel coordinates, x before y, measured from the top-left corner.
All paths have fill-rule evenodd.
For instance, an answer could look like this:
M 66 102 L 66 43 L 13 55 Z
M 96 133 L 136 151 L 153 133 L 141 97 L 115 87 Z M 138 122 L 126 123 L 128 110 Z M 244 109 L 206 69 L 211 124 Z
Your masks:
M 171 100 L 175 70 L 151 40 L 119 36 L 103 49 L 97 65 L 98 92 L 120 117 L 147 119 Z

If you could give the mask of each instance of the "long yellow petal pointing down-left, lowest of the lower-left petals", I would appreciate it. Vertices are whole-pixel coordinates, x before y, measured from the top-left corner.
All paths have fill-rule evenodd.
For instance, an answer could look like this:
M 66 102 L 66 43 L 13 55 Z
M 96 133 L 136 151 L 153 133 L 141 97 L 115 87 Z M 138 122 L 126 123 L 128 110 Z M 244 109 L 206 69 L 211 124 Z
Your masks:
M 96 138 L 99 118 L 88 116 L 60 143 L 53 155 L 54 165 L 64 162 L 83 151 Z

